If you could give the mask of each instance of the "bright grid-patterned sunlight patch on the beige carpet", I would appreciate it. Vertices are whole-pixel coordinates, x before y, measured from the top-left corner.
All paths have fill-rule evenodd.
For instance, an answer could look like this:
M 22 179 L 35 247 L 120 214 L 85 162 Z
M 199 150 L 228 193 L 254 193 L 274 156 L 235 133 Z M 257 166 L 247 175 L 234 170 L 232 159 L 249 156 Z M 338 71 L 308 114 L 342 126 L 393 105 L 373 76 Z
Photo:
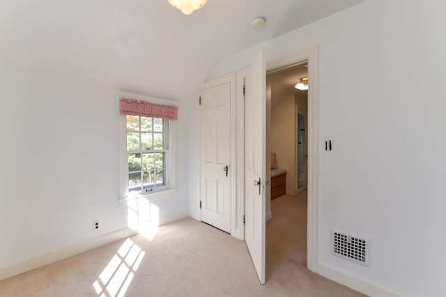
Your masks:
M 100 273 L 93 287 L 98 296 L 124 296 L 145 252 L 131 239 L 126 239 L 116 255 Z

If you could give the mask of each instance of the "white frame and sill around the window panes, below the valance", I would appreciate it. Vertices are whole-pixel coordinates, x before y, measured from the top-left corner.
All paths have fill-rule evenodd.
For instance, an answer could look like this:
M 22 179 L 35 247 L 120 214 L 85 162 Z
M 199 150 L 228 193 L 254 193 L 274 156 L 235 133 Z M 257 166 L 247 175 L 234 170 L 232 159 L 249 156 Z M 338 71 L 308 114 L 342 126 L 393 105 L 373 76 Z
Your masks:
M 119 115 L 119 202 L 146 198 L 149 201 L 167 198 L 176 192 L 176 120 L 169 121 L 168 142 L 166 150 L 166 184 L 159 190 L 151 192 L 128 191 L 128 152 L 127 152 L 127 118 Z

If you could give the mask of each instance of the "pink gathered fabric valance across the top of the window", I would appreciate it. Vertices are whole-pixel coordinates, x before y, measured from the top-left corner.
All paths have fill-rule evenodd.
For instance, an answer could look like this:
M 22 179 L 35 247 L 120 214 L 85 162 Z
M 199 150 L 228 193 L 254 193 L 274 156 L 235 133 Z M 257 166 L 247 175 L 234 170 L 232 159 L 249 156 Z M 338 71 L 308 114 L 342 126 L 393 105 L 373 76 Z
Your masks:
M 119 99 L 119 113 L 121 115 L 140 115 L 165 120 L 178 120 L 178 106 L 153 104 L 137 99 Z

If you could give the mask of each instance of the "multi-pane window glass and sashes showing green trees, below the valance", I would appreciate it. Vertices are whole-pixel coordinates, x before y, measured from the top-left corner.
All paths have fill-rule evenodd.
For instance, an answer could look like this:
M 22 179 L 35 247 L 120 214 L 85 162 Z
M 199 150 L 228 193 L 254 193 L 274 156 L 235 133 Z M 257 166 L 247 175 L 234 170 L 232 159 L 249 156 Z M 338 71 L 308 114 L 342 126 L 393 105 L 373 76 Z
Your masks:
M 169 120 L 126 115 L 128 191 L 148 193 L 167 186 Z

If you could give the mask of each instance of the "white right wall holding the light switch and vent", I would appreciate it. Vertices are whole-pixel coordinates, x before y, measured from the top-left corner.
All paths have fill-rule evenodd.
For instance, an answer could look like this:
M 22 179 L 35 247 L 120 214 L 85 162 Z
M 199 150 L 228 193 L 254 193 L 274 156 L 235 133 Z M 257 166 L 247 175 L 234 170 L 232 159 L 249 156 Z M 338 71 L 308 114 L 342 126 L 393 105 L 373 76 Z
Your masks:
M 446 3 L 366 1 L 226 58 L 212 77 L 318 45 L 318 262 L 413 296 L 445 296 Z M 325 152 L 331 139 L 334 150 Z M 371 236 L 371 266 L 330 228 Z

